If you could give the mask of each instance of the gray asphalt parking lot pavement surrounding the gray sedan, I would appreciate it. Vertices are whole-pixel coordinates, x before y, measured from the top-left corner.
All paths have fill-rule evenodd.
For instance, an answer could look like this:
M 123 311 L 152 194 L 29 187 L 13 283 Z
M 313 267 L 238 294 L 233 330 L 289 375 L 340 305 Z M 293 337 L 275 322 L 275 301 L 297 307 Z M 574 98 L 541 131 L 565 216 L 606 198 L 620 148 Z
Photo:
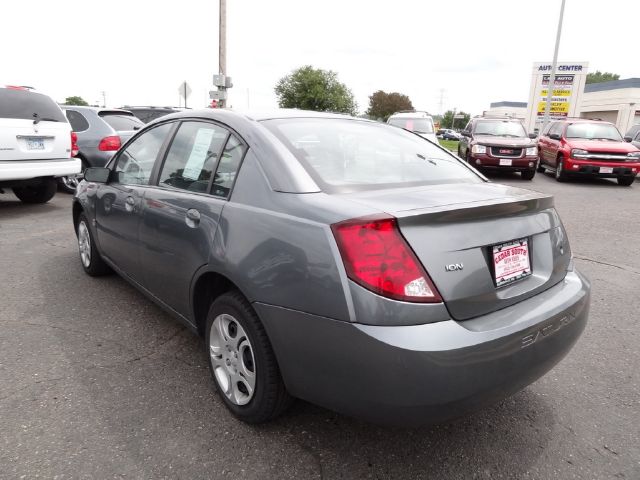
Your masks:
M 415 430 L 304 402 L 240 423 L 194 335 L 117 276 L 83 273 L 69 195 L 1 195 L 0 477 L 640 478 L 640 183 L 493 180 L 556 196 L 590 323 L 524 391 Z

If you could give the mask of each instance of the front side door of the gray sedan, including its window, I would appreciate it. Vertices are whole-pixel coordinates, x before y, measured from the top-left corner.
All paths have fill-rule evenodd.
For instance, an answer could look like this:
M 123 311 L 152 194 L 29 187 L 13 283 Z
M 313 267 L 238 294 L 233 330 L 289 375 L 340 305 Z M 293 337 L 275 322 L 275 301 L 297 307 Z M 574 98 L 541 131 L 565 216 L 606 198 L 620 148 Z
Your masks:
M 114 158 L 107 184 L 96 195 L 96 231 L 101 253 L 140 283 L 138 228 L 141 200 L 151 172 L 173 124 L 145 131 Z

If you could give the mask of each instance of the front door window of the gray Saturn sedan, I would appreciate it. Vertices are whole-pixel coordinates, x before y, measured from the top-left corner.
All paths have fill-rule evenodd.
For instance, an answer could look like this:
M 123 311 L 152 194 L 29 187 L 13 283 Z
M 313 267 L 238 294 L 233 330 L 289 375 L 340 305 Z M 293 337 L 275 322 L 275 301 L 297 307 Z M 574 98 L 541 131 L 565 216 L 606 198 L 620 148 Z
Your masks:
M 173 124 L 165 123 L 152 128 L 136 138 L 118 154 L 115 168 L 118 183 L 149 184 L 153 164 L 172 127 Z

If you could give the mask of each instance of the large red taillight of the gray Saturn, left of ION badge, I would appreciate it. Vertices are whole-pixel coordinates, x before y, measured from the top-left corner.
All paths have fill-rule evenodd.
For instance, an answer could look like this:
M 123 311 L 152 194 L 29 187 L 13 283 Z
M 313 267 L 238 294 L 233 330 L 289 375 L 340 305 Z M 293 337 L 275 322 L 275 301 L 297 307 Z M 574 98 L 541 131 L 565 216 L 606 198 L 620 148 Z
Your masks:
M 365 217 L 331 225 L 347 276 L 378 295 L 406 302 L 442 298 L 400 234 L 394 217 Z

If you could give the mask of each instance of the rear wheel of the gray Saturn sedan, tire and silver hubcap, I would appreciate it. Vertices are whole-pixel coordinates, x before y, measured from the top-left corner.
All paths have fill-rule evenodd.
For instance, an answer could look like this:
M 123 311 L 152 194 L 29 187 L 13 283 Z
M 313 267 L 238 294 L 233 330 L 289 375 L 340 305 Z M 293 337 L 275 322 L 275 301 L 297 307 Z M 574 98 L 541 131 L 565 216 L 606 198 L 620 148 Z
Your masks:
M 266 422 L 291 404 L 267 333 L 239 292 L 213 302 L 205 342 L 220 398 L 240 420 Z

